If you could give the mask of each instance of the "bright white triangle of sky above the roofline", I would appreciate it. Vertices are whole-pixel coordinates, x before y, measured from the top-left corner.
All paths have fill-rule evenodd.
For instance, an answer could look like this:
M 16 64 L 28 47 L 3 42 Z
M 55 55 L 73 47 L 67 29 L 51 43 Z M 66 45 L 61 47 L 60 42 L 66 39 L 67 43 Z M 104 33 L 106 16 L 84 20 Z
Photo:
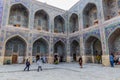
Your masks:
M 37 0 L 60 9 L 69 10 L 79 0 Z

